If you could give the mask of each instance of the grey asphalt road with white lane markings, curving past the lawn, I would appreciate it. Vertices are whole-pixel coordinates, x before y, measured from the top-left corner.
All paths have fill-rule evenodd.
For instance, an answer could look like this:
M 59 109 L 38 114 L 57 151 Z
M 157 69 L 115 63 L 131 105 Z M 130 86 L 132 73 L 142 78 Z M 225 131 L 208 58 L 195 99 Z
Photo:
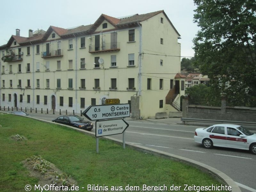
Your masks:
M 31 116 L 51 121 L 58 115 Z M 145 120 L 125 121 L 129 124 L 125 132 L 126 143 L 154 148 L 207 164 L 227 174 L 237 182 L 241 191 L 256 192 L 256 155 L 249 151 L 217 147 L 205 149 L 194 142 L 195 129 L 199 126 Z M 95 132 L 95 129 L 92 132 Z M 110 137 L 123 140 L 122 134 Z

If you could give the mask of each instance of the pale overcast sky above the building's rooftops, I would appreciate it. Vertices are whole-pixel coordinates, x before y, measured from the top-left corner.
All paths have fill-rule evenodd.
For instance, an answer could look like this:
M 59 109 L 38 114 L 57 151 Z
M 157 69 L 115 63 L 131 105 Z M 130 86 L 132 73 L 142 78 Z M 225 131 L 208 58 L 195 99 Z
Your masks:
M 16 29 L 28 37 L 28 30 L 47 30 L 51 25 L 72 28 L 93 24 L 100 15 L 122 17 L 164 10 L 180 33 L 181 56 L 193 57 L 192 40 L 198 27 L 193 23 L 196 6 L 193 0 L 22 0 L 4 1 L 0 12 L 0 45 L 6 44 Z

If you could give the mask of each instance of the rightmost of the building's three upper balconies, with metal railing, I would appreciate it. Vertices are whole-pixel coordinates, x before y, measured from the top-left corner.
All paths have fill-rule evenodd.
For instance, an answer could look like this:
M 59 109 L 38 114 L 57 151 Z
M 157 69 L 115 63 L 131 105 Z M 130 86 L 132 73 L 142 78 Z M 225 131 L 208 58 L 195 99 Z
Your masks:
M 103 43 L 100 46 L 90 45 L 89 53 L 100 53 L 100 52 L 114 52 L 120 51 L 120 42 L 115 43 Z

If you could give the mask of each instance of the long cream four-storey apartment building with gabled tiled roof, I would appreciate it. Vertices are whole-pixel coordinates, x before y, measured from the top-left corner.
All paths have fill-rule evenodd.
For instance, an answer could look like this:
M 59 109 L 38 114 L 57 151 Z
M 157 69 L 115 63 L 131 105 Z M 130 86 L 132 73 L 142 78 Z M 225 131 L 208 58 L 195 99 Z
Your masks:
M 0 46 L 0 106 L 80 113 L 119 98 L 134 118 L 176 111 L 170 101 L 184 95 L 179 38 L 163 10 L 101 14 L 92 25 L 29 29 L 28 37 L 16 29 Z

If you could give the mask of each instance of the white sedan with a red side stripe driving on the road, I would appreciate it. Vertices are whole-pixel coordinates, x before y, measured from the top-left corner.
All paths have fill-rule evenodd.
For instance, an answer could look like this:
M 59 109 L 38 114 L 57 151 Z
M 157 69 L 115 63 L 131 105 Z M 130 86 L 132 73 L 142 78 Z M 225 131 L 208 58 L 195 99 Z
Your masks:
M 207 128 L 197 128 L 195 142 L 204 148 L 227 147 L 250 150 L 256 155 L 256 134 L 235 124 L 215 124 Z

